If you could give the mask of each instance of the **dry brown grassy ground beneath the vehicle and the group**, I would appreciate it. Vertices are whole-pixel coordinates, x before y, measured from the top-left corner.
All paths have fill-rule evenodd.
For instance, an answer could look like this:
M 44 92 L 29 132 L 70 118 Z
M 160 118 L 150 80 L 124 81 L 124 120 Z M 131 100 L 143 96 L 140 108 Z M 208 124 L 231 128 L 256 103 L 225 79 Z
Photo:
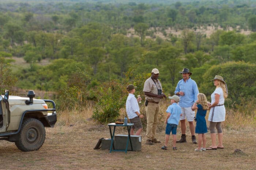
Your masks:
M 177 129 L 177 139 L 180 138 Z M 112 152 L 94 150 L 99 138 L 110 138 L 107 125 L 94 125 L 88 122 L 46 128 L 46 140 L 38 151 L 22 152 L 14 143 L 0 141 L 0 169 L 255 169 L 256 133 L 255 129 L 223 130 L 224 149 L 195 152 L 187 129 L 187 143 L 177 144 L 178 150 L 171 147 L 161 150 L 165 131 L 158 132 L 162 143 L 145 145 L 146 132 L 142 132 L 142 150 Z M 116 128 L 116 134 L 127 134 L 126 129 Z M 210 134 L 207 133 L 207 146 Z M 234 153 L 240 149 L 243 153 Z

